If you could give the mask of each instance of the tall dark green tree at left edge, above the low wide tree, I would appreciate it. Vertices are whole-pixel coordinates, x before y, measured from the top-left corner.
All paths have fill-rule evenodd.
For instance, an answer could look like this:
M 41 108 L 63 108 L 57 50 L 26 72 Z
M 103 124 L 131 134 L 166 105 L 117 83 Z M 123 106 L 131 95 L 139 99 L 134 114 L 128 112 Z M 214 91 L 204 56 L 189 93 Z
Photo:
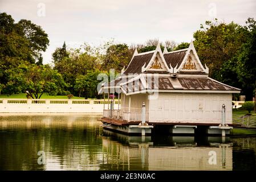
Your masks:
M 9 73 L 19 65 L 42 61 L 40 52 L 46 50 L 48 43 L 48 35 L 40 26 L 25 19 L 15 23 L 11 15 L 0 13 L 0 84 L 6 85 Z

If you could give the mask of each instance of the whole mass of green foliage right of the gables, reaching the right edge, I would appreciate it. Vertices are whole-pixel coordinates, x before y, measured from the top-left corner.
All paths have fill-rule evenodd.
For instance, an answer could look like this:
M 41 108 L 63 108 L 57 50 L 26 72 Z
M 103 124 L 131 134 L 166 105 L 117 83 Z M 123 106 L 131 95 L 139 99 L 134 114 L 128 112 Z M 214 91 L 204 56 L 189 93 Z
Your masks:
M 242 27 L 231 22 L 206 21 L 205 27 L 194 33 L 194 46 L 202 64 L 209 67 L 209 77 L 241 88 L 246 100 L 255 88 L 255 25 L 249 19 Z M 250 27 L 250 28 L 249 28 Z

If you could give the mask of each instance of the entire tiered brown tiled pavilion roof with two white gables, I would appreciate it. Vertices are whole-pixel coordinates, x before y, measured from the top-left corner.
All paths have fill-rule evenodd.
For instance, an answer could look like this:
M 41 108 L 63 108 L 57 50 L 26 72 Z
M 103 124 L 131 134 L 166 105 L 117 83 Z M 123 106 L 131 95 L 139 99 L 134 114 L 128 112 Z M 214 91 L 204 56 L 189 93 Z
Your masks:
M 201 92 L 239 93 L 234 88 L 208 77 L 209 69 L 201 64 L 193 42 L 189 48 L 178 51 L 161 51 L 160 44 L 155 51 L 135 53 L 121 76 L 102 84 L 99 94 L 109 88 L 121 90 L 124 94 L 147 92 Z

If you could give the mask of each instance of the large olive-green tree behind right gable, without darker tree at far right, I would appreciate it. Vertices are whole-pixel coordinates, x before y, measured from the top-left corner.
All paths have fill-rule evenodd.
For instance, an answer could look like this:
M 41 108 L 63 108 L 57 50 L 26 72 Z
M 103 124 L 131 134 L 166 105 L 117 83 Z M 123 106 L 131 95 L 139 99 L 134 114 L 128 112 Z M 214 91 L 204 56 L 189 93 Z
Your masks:
M 209 67 L 209 76 L 225 82 L 226 76 L 229 77 L 225 75 L 227 69 L 234 72 L 233 68 L 229 67 L 235 64 L 235 59 L 232 58 L 246 41 L 244 28 L 234 22 L 226 24 L 215 19 L 214 22 L 206 21 L 205 27 L 201 24 L 200 30 L 194 32 L 194 38 L 194 46 L 200 60 Z M 226 68 L 222 70 L 224 64 Z M 234 77 L 233 74 L 230 77 Z

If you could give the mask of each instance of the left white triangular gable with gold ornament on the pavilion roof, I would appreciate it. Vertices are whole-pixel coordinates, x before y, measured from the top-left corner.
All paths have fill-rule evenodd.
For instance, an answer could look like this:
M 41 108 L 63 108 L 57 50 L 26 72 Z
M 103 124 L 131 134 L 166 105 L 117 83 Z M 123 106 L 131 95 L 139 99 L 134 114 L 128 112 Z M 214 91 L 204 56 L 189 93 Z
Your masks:
M 159 57 L 157 57 L 159 55 Z M 162 64 L 161 64 L 162 63 Z M 151 60 L 149 61 L 148 65 L 146 66 L 145 64 L 143 67 L 141 67 L 141 72 L 145 72 L 148 69 L 153 69 L 154 71 L 168 71 L 170 72 L 168 65 L 166 64 L 166 61 L 164 59 L 164 55 L 162 54 L 162 50 L 160 47 L 160 43 L 157 44 L 157 47 L 153 53 L 153 56 Z

